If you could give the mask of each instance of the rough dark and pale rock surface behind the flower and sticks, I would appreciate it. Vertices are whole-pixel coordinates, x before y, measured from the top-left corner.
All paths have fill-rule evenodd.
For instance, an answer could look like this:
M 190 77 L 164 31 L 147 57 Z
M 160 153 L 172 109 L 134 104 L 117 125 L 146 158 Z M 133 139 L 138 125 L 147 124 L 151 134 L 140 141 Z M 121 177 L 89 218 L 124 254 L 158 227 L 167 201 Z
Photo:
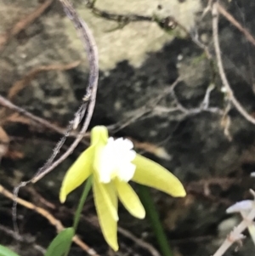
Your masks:
M 206 7 L 201 2 L 96 2 L 98 9 L 110 13 L 156 15 L 159 19 L 173 16 L 183 29 L 177 26 L 172 31 L 163 30 L 151 21 L 131 22 L 114 30 L 118 26 L 115 21 L 95 16 L 84 1 L 74 2 L 74 7 L 93 31 L 99 48 L 99 91 L 90 127 L 107 125 L 116 137 L 130 137 L 153 145 L 154 150 L 151 151 L 137 144 L 138 151 L 145 150 L 146 156 L 172 170 L 184 182 L 188 191 L 184 199 L 151 192 L 176 255 L 189 256 L 212 255 L 226 236 L 226 230 L 239 221 L 235 219 L 237 216 L 233 219 L 233 216 L 226 215 L 225 209 L 236 201 L 251 197 L 248 190 L 254 185 L 249 174 L 255 167 L 254 125 L 233 107 L 228 113 L 229 119 L 223 120 L 223 115 L 219 113 L 224 111 L 227 102 L 213 51 L 212 17 L 206 14 L 201 20 L 201 13 Z M 0 3 L 1 45 L 1 36 L 43 1 L 20 0 L 17 3 L 0 0 Z M 222 4 L 242 26 L 255 34 L 255 3 L 240 0 Z M 187 31 L 194 36 L 195 32 L 198 33 L 200 40 L 207 44 L 212 60 L 208 60 L 204 50 L 186 36 Z M 222 16 L 219 38 L 224 68 L 236 99 L 254 116 L 254 45 L 248 43 L 246 37 Z M 9 39 L 0 50 L 0 94 L 6 97 L 14 82 L 31 69 L 81 60 L 80 65 L 69 70 L 38 73 L 11 99 L 15 105 L 37 117 L 59 127 L 67 126 L 81 104 L 88 82 L 88 63 L 82 43 L 61 5 L 53 1 L 37 20 Z M 178 77 L 182 81 L 174 88 L 175 94 L 166 93 Z M 209 110 L 216 108 L 217 112 L 202 111 L 199 108 L 212 83 L 215 88 L 210 94 Z M 161 98 L 157 100 L 159 96 Z M 0 166 L 1 185 L 12 190 L 21 180 L 30 179 L 42 167 L 61 136 L 26 118 L 13 116 L 7 120 L 13 112 L 0 111 L 1 126 L 11 139 L 9 152 L 3 156 Z M 229 128 L 226 120 L 229 120 Z M 228 133 L 224 133 L 224 129 Z M 70 141 L 68 139 L 67 145 Z M 77 151 L 54 172 L 36 185 L 20 191 L 20 196 L 44 208 L 47 206 L 38 195 L 54 204 L 55 208 L 48 207 L 48 210 L 66 226 L 71 225 L 78 191 L 70 196 L 65 206 L 60 206 L 59 185 L 65 170 L 83 149 L 84 145 L 79 145 Z M 60 153 L 65 150 L 66 147 Z M 94 225 L 92 196 L 84 213 L 78 230 L 82 240 L 100 255 L 111 255 L 107 253 L 98 226 Z M 146 220 L 133 219 L 123 208 L 120 215 L 123 228 L 157 247 Z M 55 236 L 54 227 L 26 208 L 18 208 L 18 217 L 25 242 L 15 241 L 3 229 L 12 226 L 11 202 L 1 196 L 0 243 L 14 247 L 20 255 L 42 255 L 40 248 L 46 248 Z M 226 219 L 232 221 L 231 225 Z M 122 234 L 119 240 L 121 251 L 117 255 L 150 255 Z M 128 250 L 128 247 L 132 249 Z M 247 238 L 244 247 L 235 255 L 251 255 L 255 251 L 253 247 Z M 74 247 L 71 253 L 82 255 L 79 247 Z M 226 255 L 233 255 L 233 250 Z

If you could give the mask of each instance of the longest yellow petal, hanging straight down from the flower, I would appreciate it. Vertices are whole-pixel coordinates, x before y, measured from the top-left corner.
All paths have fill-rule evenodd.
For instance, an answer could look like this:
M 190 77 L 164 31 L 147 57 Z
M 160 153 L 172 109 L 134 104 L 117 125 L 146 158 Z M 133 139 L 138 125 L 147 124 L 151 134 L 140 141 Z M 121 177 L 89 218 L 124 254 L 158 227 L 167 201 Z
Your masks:
M 105 241 L 117 251 L 119 248 L 117 242 L 117 220 L 112 215 L 111 210 L 112 207 L 117 207 L 116 191 L 113 190 L 111 184 L 99 184 L 97 179 L 94 179 L 93 190 L 99 225 Z

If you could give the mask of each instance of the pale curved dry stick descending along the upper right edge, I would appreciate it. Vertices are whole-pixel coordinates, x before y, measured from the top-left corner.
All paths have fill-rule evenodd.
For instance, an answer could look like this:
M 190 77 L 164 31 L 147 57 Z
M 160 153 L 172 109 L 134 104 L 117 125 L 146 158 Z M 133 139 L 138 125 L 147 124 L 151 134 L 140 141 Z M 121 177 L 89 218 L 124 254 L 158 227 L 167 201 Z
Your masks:
M 221 81 L 224 84 L 224 87 L 227 89 L 229 100 L 235 105 L 237 111 L 240 112 L 241 116 L 245 117 L 247 121 L 252 122 L 255 124 L 255 119 L 252 118 L 247 111 L 243 108 L 243 106 L 236 100 L 234 92 L 229 85 L 229 81 L 225 75 L 224 65 L 221 57 L 219 41 L 218 41 L 218 2 L 212 3 L 212 36 L 213 36 L 213 43 L 215 48 L 215 54 L 217 58 L 218 64 L 218 72 L 221 78 Z

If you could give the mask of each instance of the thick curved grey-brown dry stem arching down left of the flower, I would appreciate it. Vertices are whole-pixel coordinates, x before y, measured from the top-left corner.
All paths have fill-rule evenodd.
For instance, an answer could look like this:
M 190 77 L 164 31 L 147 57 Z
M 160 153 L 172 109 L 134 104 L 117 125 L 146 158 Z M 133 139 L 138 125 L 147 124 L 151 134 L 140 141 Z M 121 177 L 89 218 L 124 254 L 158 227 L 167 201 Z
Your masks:
M 96 100 L 96 92 L 98 87 L 98 79 L 99 79 L 99 60 L 98 60 L 98 51 L 96 44 L 94 42 L 94 37 L 91 34 L 91 31 L 88 29 L 87 24 L 78 16 L 75 9 L 72 8 L 71 3 L 69 3 L 67 0 L 59 0 L 65 9 L 66 14 L 68 17 L 72 20 L 74 23 L 77 32 L 79 36 L 81 37 L 82 43 L 84 47 L 86 48 L 87 54 L 88 54 L 88 61 L 89 61 L 89 67 L 90 67 L 90 73 L 89 73 L 89 82 L 88 82 L 88 88 L 86 90 L 86 94 L 83 97 L 83 104 L 80 107 L 80 109 L 75 114 L 74 119 L 70 122 L 70 126 L 67 129 L 66 135 L 63 139 L 59 141 L 59 144 L 55 147 L 53 155 L 49 158 L 48 162 L 38 171 L 38 173 L 35 175 L 34 178 L 31 179 L 32 183 L 37 182 L 39 179 L 42 179 L 42 177 L 46 174 L 48 174 L 50 171 L 52 171 L 54 168 L 56 168 L 59 163 L 63 162 L 67 156 L 70 156 L 72 151 L 77 147 L 79 142 L 82 140 L 83 135 L 86 133 L 88 129 L 88 124 L 92 118 L 93 112 L 94 112 L 94 105 Z M 71 131 L 71 128 L 73 128 L 73 124 L 76 124 L 78 122 L 82 121 L 82 117 L 85 115 L 85 111 L 87 110 L 87 116 L 85 118 L 85 121 L 83 122 L 82 129 L 80 131 L 80 134 L 77 135 L 77 138 L 75 141 L 71 144 L 70 148 L 65 151 L 65 153 L 59 157 L 58 160 L 54 161 L 55 156 L 58 154 L 60 147 L 64 144 L 65 138 L 68 136 L 68 134 Z M 27 183 L 26 183 L 27 184 Z M 23 184 L 25 185 L 25 184 Z M 23 186 L 21 185 L 21 186 Z

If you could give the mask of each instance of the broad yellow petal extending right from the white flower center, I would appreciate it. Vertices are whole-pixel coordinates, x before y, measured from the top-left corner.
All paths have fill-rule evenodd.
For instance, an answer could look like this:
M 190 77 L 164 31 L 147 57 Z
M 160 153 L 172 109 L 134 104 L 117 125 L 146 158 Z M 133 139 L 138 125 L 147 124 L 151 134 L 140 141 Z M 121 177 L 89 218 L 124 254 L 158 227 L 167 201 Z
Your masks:
M 160 164 L 139 154 L 136 154 L 132 162 L 136 165 L 133 181 L 156 188 L 171 196 L 186 196 L 181 182 Z

